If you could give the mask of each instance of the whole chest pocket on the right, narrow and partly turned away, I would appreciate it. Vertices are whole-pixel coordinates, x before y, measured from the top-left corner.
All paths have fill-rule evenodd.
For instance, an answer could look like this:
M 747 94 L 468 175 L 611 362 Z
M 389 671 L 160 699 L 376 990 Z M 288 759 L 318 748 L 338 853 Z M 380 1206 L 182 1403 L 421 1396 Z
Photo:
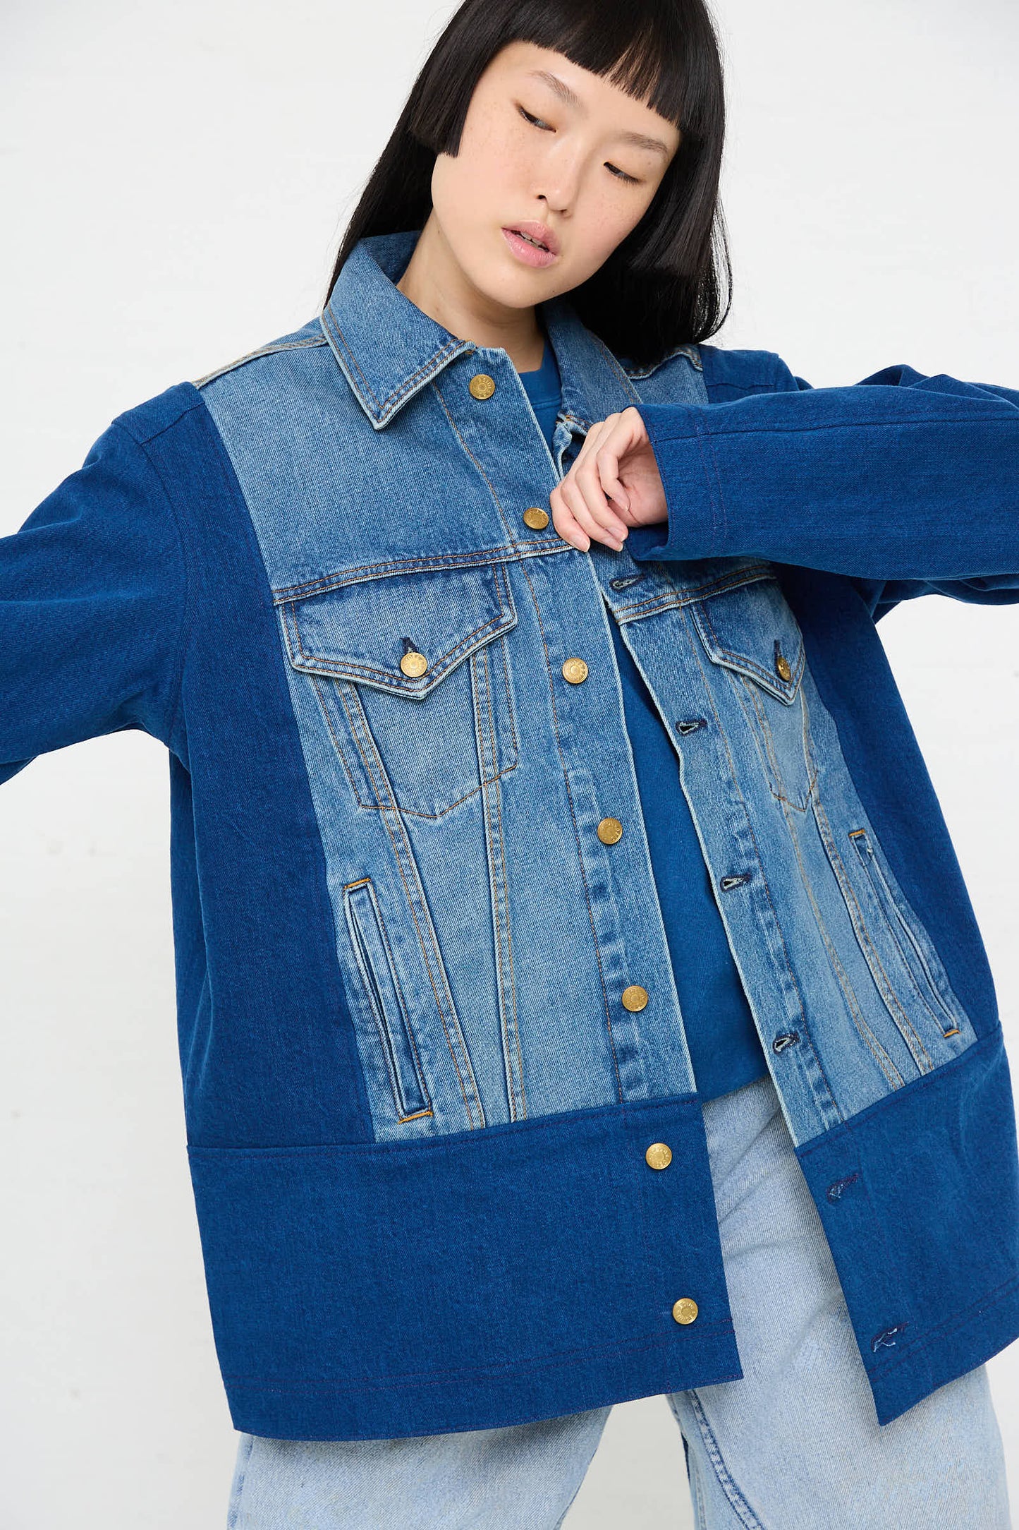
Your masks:
M 729 679 L 772 794 L 805 811 L 816 785 L 802 678 L 804 635 L 776 578 L 695 600 L 691 615 Z

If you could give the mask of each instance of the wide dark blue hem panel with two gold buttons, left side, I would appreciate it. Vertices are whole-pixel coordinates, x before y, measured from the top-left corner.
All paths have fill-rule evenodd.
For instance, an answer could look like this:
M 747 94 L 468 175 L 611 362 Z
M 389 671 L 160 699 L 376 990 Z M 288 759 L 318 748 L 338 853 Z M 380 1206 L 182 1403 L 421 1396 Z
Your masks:
M 694 1095 L 189 1157 L 235 1429 L 445 1434 L 741 1375 Z

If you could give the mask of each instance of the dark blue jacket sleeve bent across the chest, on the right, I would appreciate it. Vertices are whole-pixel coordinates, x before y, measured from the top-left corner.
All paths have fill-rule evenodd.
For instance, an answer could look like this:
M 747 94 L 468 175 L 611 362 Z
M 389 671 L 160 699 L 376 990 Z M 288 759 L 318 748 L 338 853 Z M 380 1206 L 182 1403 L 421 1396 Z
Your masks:
M 813 389 L 642 404 L 668 525 L 634 558 L 755 555 L 845 574 L 882 614 L 940 591 L 1019 600 L 1019 392 L 886 367 Z

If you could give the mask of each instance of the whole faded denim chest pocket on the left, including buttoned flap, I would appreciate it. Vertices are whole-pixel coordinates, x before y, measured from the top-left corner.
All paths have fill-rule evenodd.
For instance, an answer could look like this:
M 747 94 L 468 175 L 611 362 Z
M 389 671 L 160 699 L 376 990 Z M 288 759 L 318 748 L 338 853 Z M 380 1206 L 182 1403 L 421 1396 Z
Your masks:
M 357 580 L 281 618 L 362 808 L 437 819 L 515 768 L 504 565 Z

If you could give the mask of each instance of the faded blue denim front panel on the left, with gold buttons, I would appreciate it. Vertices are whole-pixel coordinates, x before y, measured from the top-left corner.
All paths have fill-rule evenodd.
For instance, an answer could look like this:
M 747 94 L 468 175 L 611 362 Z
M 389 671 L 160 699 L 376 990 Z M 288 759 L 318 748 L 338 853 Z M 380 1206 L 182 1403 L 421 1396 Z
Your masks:
M 437 327 L 419 311 L 411 321 Z M 607 387 L 620 387 L 616 363 L 568 317 L 550 314 L 548 327 L 565 396 L 593 407 L 593 386 L 605 410 Z M 490 401 L 469 393 L 478 369 L 495 378 Z M 322 430 L 327 386 L 336 418 Z M 281 421 L 284 387 L 292 402 Z M 608 780 L 614 809 L 642 825 L 611 633 L 588 558 L 521 520 L 555 474 L 509 358 L 454 358 L 379 435 L 321 349 L 243 366 L 203 396 L 277 589 L 376 1134 L 428 1135 L 692 1088 L 646 837 L 610 849 L 594 832 Z M 425 441 L 434 454 L 443 436 L 442 479 L 406 474 L 408 454 Z M 518 448 L 507 451 L 507 439 Z M 278 462 L 295 454 L 301 516 L 277 482 Z M 385 514 L 370 508 L 380 487 Z M 399 494 L 412 496 L 403 506 L 417 526 L 412 557 L 409 542 L 400 546 L 406 529 L 390 526 Z M 394 568 L 379 546 L 405 555 Z M 532 555 L 492 562 L 510 552 Z M 397 661 L 422 632 L 434 669 L 409 681 Z M 591 664 L 579 698 L 561 675 L 573 652 Z M 548 791 L 561 799 L 555 812 Z M 463 875 L 471 864 L 480 877 Z M 374 981 L 350 913 L 350 889 L 368 871 L 376 949 L 388 944 L 390 956 Z M 634 906 L 649 910 L 637 929 L 625 920 Z M 643 1014 L 619 1002 L 636 981 L 654 994 Z M 434 1074 L 431 1114 L 402 1108 L 400 1051 L 417 1056 L 420 1088 Z

